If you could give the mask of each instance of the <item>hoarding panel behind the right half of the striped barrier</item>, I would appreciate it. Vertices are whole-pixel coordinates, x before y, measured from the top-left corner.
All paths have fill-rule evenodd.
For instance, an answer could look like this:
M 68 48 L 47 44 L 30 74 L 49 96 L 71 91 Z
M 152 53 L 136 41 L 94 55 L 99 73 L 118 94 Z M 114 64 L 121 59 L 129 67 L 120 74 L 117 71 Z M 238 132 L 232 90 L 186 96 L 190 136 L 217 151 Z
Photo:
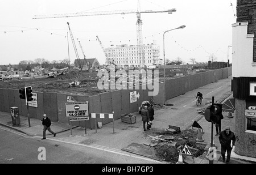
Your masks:
M 101 113 L 112 114 L 112 94 L 111 92 L 101 93 Z M 106 123 L 112 122 L 113 119 L 110 118 L 102 118 L 102 125 Z

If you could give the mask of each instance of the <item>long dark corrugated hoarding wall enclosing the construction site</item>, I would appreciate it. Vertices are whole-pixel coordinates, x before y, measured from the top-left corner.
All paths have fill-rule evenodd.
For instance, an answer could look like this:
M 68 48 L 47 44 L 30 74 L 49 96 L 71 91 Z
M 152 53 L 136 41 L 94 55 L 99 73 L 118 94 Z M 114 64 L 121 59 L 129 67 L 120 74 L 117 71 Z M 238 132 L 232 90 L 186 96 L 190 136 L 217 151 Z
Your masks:
M 198 87 L 212 83 L 219 79 L 228 78 L 232 74 L 232 67 L 217 69 L 208 72 L 201 72 L 196 75 L 184 76 L 180 78 L 166 80 L 166 100 L 179 96 L 185 92 L 192 91 Z M 130 103 L 130 92 L 137 91 L 139 98 L 134 103 Z M 42 119 L 44 113 L 52 121 L 68 123 L 68 117 L 65 117 L 65 102 L 67 95 L 64 93 L 35 92 L 38 95 L 38 108 L 29 106 L 31 118 Z M 94 96 L 76 96 L 77 101 L 88 101 L 89 113 L 113 113 L 114 119 L 121 118 L 121 114 L 134 113 L 138 111 L 142 101 L 153 99 L 156 104 L 164 104 L 163 83 L 159 83 L 159 93 L 156 96 L 149 96 L 148 89 L 122 89 L 118 91 L 100 93 Z M 18 89 L 0 88 L 0 110 L 10 112 L 10 107 L 19 107 L 19 113 L 27 116 L 27 106 L 25 100 L 19 99 Z M 112 122 L 109 118 L 97 118 L 97 122 L 102 125 Z M 95 119 L 90 121 L 76 121 L 72 125 L 86 126 L 86 128 L 95 128 Z

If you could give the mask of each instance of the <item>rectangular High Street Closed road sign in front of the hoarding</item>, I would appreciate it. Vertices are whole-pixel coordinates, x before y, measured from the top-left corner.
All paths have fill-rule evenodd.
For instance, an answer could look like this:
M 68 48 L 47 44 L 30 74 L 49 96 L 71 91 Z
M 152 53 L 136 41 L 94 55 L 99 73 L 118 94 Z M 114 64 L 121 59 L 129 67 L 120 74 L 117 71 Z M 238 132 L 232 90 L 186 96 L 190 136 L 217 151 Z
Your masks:
M 88 101 L 65 103 L 66 117 L 87 117 Z

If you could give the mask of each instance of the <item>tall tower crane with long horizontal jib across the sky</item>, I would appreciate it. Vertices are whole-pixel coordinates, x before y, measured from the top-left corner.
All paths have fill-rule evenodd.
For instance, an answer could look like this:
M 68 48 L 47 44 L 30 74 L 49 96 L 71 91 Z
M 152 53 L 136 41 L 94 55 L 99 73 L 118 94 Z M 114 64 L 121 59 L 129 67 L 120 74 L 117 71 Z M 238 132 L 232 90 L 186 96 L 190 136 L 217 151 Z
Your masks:
M 46 18 L 69 18 L 69 17 L 77 17 L 77 16 L 94 16 L 94 15 L 125 15 L 125 14 L 136 14 L 137 15 L 137 53 L 139 57 L 139 63 L 141 67 L 144 65 L 143 58 L 143 40 L 142 40 L 142 20 L 141 14 L 149 14 L 149 13 L 159 13 L 159 12 L 168 12 L 168 14 L 172 14 L 175 12 L 176 8 L 172 8 L 171 10 L 140 10 L 140 3 L 138 0 L 138 8 L 137 10 L 123 10 L 123 11 L 99 11 L 99 12 L 78 12 L 71 14 L 53 14 L 53 15 L 35 15 L 32 19 L 46 19 Z

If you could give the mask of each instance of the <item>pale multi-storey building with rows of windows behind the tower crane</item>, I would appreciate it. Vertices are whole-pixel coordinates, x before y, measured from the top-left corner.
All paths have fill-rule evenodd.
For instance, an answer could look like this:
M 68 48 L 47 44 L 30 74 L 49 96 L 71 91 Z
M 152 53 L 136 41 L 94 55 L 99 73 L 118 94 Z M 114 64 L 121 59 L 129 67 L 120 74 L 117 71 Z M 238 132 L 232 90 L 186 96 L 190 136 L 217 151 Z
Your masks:
M 108 60 L 112 63 L 115 63 L 119 68 L 133 68 L 141 67 L 150 67 L 152 65 L 159 65 L 160 62 L 160 53 L 159 46 L 156 44 L 147 44 L 143 45 L 142 51 L 138 50 L 137 45 L 122 44 L 114 47 L 113 45 L 110 48 L 105 49 L 105 53 L 108 56 Z

